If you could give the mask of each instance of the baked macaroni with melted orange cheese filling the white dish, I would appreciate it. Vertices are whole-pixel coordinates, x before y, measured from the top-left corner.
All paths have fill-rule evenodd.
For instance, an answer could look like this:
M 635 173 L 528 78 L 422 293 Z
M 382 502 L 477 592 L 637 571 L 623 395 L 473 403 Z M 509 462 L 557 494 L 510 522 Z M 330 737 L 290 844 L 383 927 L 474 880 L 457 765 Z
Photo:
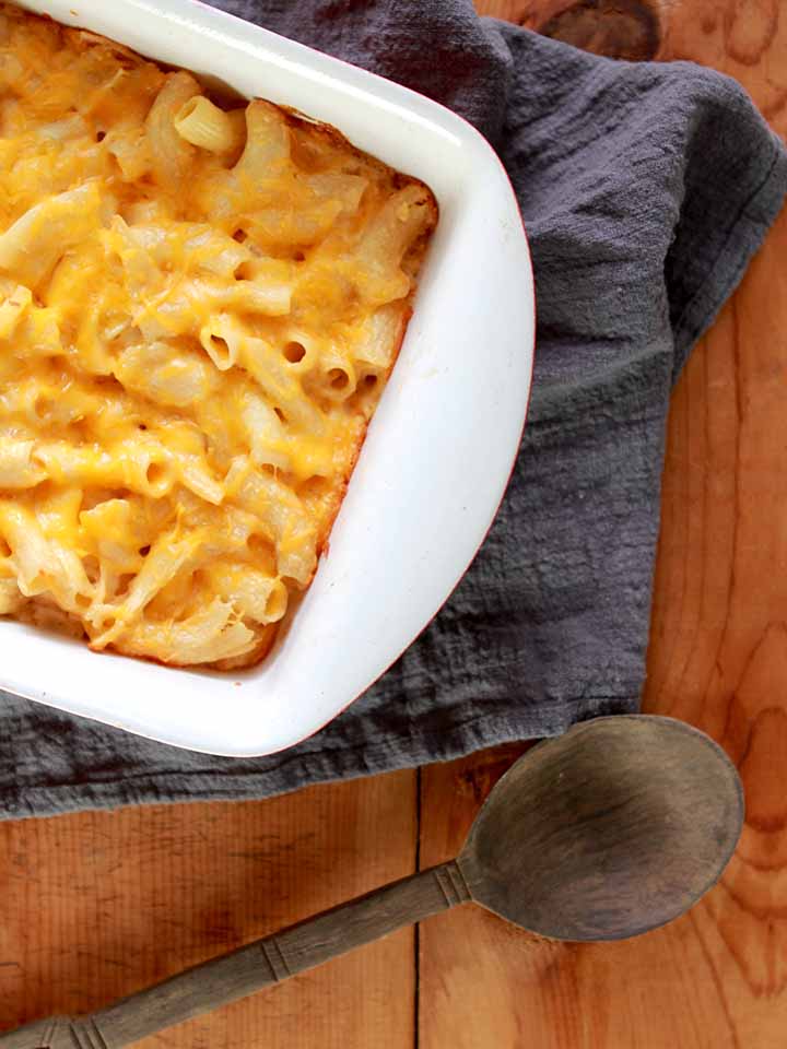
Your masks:
M 262 658 L 437 211 L 338 132 L 0 5 L 0 615 Z

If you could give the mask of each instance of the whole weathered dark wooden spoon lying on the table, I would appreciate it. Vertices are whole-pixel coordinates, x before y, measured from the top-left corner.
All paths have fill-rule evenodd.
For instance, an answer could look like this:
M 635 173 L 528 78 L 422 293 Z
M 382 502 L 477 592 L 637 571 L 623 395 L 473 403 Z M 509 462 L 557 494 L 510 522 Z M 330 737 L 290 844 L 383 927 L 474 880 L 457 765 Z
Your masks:
M 309 918 L 0 1049 L 120 1049 L 457 904 L 555 940 L 620 940 L 677 918 L 718 880 L 743 792 L 725 753 L 671 718 L 599 718 L 501 779 L 456 860 Z

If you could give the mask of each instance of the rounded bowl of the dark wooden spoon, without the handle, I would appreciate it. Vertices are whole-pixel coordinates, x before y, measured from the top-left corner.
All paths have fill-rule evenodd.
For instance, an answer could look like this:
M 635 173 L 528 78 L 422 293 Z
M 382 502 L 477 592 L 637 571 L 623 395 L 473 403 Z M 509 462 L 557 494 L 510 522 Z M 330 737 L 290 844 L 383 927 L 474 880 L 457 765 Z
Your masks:
M 662 926 L 720 876 L 740 837 L 735 766 L 672 718 L 597 718 L 498 781 L 458 865 L 472 898 L 553 940 Z

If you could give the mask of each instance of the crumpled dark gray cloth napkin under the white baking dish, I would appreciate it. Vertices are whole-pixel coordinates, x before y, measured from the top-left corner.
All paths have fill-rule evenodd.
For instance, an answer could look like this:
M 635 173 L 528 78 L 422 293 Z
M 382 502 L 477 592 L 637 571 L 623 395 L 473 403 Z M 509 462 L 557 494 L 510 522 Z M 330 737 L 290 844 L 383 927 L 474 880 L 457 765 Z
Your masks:
M 787 186 L 740 86 L 690 63 L 591 57 L 471 0 L 214 2 L 445 103 L 498 150 L 537 279 L 526 438 L 465 581 L 324 731 L 214 758 L 0 694 L 5 817 L 259 798 L 636 709 L 670 388 Z

